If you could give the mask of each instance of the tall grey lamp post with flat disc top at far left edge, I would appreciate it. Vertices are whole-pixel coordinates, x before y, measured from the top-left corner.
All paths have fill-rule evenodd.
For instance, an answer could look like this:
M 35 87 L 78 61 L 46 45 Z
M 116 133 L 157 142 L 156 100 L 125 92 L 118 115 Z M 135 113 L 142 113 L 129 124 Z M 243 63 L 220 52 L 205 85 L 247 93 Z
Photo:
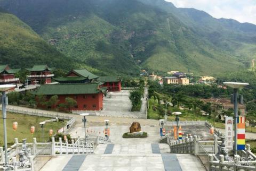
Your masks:
M 6 97 L 5 91 L 14 88 L 15 85 L 5 84 L 0 85 L 0 91 L 2 92 L 2 111 L 3 111 L 3 122 L 4 122 L 4 152 L 5 152 L 5 163 L 8 163 L 7 153 L 7 131 L 6 131 L 6 105 L 8 105 L 8 98 Z

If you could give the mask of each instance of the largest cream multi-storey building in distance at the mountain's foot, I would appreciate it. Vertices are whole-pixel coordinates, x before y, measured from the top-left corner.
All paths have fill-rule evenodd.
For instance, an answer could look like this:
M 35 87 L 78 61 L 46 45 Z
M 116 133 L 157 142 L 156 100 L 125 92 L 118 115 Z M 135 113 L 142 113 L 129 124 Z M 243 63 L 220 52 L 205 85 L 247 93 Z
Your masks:
M 187 78 L 185 73 L 177 72 L 177 73 L 174 73 L 173 76 L 165 76 L 163 78 L 163 82 L 167 84 L 188 85 L 189 79 Z

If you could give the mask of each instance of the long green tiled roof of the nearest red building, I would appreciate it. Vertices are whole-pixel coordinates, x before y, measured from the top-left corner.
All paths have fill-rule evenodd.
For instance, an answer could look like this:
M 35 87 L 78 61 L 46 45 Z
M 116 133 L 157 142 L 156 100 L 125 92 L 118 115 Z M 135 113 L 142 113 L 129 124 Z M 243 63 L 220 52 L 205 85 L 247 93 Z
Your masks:
M 102 92 L 98 84 L 50 84 L 42 85 L 36 95 L 81 95 Z

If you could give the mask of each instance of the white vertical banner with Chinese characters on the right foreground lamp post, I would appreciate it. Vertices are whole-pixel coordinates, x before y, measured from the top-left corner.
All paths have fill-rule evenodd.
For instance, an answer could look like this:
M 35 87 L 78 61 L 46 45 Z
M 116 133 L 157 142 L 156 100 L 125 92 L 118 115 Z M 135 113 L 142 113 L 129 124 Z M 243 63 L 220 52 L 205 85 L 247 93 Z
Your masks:
M 225 147 L 233 149 L 233 117 L 225 118 L 226 141 Z

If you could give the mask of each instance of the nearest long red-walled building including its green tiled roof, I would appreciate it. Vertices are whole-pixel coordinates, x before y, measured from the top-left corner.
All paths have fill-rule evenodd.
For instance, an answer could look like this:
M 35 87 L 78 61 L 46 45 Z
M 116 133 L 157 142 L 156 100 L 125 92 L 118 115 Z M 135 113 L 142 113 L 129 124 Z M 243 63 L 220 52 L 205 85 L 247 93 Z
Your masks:
M 37 89 L 35 94 L 45 95 L 46 100 L 49 100 L 52 96 L 57 95 L 59 101 L 56 105 L 50 106 L 50 108 L 60 108 L 61 110 L 101 110 L 103 108 L 103 92 L 99 87 L 99 84 L 48 84 L 42 85 Z M 73 98 L 76 104 L 71 107 L 63 107 L 68 105 L 66 98 Z M 62 104 L 62 105 L 61 105 Z M 42 106 L 37 101 L 38 107 Z

